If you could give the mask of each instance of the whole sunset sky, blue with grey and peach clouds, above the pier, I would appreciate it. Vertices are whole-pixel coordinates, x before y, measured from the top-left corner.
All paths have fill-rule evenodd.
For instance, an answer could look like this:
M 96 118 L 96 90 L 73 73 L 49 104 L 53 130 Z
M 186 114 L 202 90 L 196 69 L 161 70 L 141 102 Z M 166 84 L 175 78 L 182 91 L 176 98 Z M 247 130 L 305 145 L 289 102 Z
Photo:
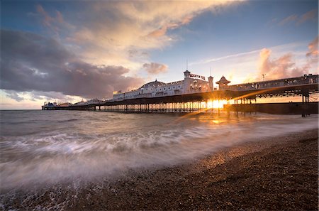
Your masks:
M 186 61 L 231 84 L 318 74 L 316 0 L 0 4 L 0 109 L 183 80 Z

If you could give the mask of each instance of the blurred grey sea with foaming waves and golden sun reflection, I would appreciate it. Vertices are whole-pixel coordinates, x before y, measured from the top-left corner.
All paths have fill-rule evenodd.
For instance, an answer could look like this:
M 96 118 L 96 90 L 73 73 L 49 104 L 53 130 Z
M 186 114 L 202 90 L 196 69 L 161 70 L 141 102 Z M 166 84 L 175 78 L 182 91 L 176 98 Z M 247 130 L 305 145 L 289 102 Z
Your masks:
M 317 114 L 0 114 L 0 208 L 26 190 L 34 195 L 50 187 L 77 189 L 128 171 L 196 161 L 247 141 L 318 129 Z

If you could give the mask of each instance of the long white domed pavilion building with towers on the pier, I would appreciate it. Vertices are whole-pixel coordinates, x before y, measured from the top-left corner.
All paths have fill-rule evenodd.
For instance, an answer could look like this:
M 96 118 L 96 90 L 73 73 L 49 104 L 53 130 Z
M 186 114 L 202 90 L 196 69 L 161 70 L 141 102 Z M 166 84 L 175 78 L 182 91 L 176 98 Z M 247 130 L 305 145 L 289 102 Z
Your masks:
M 213 77 L 195 75 L 186 70 L 184 72 L 184 80 L 177 82 L 159 82 L 157 80 L 142 85 L 138 90 L 129 92 L 117 91 L 113 92 L 112 101 L 122 101 L 124 99 L 135 99 L 141 97 L 163 97 L 178 94 L 188 94 L 195 92 L 211 92 L 213 91 Z

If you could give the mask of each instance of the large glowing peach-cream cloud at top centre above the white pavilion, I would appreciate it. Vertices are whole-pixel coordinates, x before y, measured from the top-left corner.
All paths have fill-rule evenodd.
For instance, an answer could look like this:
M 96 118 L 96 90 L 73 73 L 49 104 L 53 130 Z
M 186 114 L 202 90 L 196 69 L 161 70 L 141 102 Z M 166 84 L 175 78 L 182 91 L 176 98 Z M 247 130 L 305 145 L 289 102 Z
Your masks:
M 81 13 L 81 24 L 67 42 L 81 45 L 89 63 L 118 65 L 138 71 L 150 63 L 145 52 L 162 49 L 179 37 L 168 33 L 203 11 L 230 1 L 94 1 Z M 132 52 L 135 52 L 132 58 Z

